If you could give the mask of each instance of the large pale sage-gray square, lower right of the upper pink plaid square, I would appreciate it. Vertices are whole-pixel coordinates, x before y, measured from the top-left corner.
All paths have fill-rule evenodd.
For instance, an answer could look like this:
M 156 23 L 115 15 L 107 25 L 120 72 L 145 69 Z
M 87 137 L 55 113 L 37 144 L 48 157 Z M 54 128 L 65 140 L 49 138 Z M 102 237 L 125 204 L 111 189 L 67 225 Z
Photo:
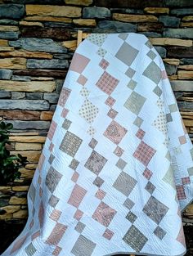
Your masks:
M 123 106 L 125 106 L 128 110 L 132 111 L 132 113 L 138 115 L 145 101 L 145 97 L 133 91 L 128 97 L 128 100 L 124 102 Z

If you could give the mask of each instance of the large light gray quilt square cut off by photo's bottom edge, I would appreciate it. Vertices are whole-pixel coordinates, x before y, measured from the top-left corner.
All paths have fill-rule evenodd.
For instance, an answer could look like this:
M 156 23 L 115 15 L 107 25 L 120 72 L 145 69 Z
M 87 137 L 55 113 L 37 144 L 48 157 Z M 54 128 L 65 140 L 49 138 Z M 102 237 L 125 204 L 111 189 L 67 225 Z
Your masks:
M 96 244 L 89 240 L 87 237 L 80 235 L 78 240 L 75 242 L 71 253 L 75 256 L 91 256 Z

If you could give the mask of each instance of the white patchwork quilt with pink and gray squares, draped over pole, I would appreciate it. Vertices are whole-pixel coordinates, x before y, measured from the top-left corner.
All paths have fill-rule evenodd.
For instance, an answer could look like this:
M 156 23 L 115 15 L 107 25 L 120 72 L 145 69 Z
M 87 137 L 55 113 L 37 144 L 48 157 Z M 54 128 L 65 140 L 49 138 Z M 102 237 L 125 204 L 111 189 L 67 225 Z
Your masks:
M 142 34 L 90 34 L 2 256 L 184 255 L 192 199 L 193 146 L 161 56 Z

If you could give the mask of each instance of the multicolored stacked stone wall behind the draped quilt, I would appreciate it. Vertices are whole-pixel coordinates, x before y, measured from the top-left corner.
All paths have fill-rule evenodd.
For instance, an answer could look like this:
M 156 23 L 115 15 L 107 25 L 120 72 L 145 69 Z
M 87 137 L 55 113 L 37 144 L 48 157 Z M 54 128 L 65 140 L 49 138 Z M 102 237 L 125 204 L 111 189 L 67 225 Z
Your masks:
M 193 140 L 192 0 L 0 0 L 0 119 L 11 122 L 11 153 L 27 156 L 20 180 L 0 187 L 5 249 L 24 227 L 26 195 L 77 43 L 88 33 L 145 34 L 162 56 Z M 183 213 L 188 252 L 193 204 Z M 11 234 L 12 225 L 20 227 Z M 22 226 L 23 225 L 23 226 Z

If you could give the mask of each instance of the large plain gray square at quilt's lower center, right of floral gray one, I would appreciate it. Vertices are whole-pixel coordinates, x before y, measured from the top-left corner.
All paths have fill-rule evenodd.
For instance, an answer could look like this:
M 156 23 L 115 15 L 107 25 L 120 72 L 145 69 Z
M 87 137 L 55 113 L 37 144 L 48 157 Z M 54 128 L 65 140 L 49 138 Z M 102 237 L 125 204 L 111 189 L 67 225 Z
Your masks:
M 134 186 L 136 186 L 137 180 L 133 177 L 128 175 L 128 173 L 121 172 L 119 177 L 117 177 L 116 181 L 114 182 L 113 186 L 115 189 L 123 193 L 123 195 L 128 196 Z

